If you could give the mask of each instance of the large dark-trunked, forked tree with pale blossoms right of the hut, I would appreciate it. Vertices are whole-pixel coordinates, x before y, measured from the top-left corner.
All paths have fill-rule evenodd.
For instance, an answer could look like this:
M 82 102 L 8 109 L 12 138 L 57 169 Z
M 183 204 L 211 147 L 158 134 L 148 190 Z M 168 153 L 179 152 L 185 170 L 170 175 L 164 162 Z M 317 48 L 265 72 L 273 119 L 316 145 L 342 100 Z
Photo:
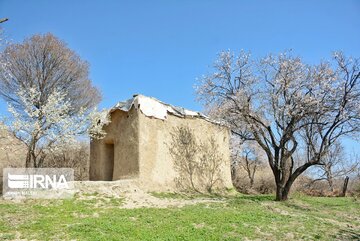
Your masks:
M 223 52 L 197 92 L 213 117 L 265 151 L 276 182 L 276 200 L 287 200 L 296 178 L 321 165 L 330 146 L 360 131 L 360 68 L 335 53 L 333 62 L 305 64 L 290 53 L 252 61 Z M 306 141 L 302 135 L 307 137 Z M 294 160 L 306 149 L 305 162 Z

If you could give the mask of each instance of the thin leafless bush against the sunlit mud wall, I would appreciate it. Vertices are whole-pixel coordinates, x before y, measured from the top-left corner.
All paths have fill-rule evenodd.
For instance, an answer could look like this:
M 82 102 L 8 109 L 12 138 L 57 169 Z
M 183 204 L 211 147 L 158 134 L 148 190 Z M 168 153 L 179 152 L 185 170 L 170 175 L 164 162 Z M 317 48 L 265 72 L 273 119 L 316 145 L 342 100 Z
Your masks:
M 177 187 L 187 192 L 211 193 L 221 179 L 222 157 L 214 138 L 199 142 L 193 130 L 187 126 L 174 128 L 171 133 L 169 152 L 178 173 Z

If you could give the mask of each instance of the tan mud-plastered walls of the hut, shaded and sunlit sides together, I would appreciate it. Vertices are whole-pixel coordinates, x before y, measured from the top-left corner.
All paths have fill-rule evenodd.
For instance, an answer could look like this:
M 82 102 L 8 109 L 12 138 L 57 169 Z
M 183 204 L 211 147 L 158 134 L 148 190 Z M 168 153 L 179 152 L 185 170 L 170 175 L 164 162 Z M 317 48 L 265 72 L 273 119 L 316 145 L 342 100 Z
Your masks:
M 149 191 L 176 190 L 173 160 L 169 153 L 171 132 L 175 127 L 189 126 L 198 140 L 213 136 L 223 156 L 221 167 L 225 187 L 232 187 L 230 172 L 229 130 L 201 118 L 167 115 L 166 120 L 147 117 L 140 110 L 116 110 L 105 131 L 107 136 L 91 143 L 90 180 L 137 177 Z M 114 144 L 114 169 L 107 163 L 107 144 Z

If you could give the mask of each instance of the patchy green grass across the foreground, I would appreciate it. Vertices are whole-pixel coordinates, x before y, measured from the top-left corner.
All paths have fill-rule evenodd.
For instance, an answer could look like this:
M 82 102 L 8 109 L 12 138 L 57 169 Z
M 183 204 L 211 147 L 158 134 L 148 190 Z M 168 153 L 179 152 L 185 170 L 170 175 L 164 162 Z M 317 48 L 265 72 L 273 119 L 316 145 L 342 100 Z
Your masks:
M 182 208 L 122 209 L 122 199 L 95 197 L 0 201 L 0 240 L 360 239 L 360 203 L 352 198 L 274 202 L 271 195 L 239 194 Z

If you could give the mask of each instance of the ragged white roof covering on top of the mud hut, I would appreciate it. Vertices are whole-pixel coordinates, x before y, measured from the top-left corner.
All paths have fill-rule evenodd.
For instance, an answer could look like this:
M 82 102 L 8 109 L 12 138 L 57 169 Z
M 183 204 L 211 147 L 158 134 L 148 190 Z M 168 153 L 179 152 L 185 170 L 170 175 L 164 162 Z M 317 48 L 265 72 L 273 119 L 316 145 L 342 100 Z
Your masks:
M 206 115 L 200 112 L 191 111 L 182 107 L 166 104 L 153 97 L 147 97 L 144 95 L 134 95 L 133 98 L 129 100 L 117 103 L 113 108 L 110 109 L 110 113 L 115 110 L 122 110 L 128 112 L 132 107 L 140 109 L 141 112 L 147 117 L 154 117 L 161 120 L 165 120 L 167 118 L 167 115 L 170 114 L 181 118 L 201 118 L 212 123 L 217 123 L 210 120 Z

